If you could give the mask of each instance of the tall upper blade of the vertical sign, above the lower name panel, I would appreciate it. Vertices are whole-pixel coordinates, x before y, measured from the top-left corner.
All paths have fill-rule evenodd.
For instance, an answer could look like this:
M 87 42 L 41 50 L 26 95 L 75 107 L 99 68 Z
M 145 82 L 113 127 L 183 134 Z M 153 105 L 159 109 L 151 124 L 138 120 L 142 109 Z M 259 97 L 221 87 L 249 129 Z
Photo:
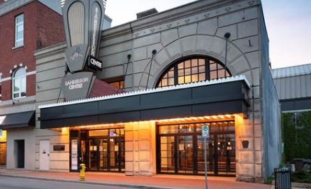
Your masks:
M 89 55 L 94 58 L 98 55 L 104 11 L 101 0 L 66 0 L 63 15 L 69 72 L 89 70 L 88 66 L 92 66 L 92 71 L 101 71 L 98 59 L 93 59 L 93 64 L 85 65 L 85 62 L 89 62 Z

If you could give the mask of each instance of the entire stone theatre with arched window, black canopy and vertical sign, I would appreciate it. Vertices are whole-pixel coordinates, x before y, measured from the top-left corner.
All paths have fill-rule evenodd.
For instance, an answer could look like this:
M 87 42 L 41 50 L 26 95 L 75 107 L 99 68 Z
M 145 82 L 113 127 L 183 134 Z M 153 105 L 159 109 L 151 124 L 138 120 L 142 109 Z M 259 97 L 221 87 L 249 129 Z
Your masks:
M 34 52 L 36 169 L 203 175 L 208 125 L 209 175 L 273 174 L 280 104 L 261 1 L 148 10 L 99 34 L 101 5 L 87 2 L 66 1 L 66 43 Z

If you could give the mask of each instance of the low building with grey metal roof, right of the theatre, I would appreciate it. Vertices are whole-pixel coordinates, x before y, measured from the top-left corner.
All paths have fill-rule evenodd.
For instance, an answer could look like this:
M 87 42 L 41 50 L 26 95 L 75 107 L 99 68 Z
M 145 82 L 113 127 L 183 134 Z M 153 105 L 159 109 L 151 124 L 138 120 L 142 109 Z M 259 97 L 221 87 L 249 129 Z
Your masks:
M 273 69 L 272 73 L 281 103 L 284 162 L 310 159 L 311 64 Z

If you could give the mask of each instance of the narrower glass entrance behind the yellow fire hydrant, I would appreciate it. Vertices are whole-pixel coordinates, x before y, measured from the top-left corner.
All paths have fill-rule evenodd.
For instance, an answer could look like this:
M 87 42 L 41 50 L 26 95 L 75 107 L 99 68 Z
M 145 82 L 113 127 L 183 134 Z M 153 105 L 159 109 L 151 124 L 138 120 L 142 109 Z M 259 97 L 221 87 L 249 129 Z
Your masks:
M 72 141 L 77 141 L 76 159 Z M 84 163 L 87 171 L 125 172 L 124 128 L 71 130 L 71 171 Z

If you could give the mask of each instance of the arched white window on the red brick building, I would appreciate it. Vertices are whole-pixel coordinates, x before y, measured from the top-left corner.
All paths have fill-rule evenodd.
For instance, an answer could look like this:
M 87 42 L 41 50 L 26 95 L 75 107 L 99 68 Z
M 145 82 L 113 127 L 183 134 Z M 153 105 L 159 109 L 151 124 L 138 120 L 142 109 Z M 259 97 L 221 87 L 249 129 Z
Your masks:
M 13 74 L 13 98 L 26 97 L 26 70 L 21 67 Z

